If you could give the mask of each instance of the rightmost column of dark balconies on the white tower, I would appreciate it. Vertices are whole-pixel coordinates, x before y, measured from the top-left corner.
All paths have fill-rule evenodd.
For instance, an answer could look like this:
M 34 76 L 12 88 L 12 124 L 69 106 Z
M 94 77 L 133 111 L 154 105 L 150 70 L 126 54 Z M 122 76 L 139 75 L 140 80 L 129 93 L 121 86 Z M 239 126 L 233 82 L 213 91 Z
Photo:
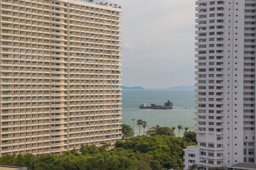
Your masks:
M 245 0 L 244 13 L 244 162 L 255 163 L 256 2 Z

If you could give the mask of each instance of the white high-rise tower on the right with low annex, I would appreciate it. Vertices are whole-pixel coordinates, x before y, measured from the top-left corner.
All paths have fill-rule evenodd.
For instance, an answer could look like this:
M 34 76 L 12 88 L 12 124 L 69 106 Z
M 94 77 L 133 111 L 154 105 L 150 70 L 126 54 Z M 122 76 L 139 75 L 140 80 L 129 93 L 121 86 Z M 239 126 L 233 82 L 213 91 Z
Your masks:
M 255 164 L 256 0 L 196 1 L 197 146 L 185 169 Z

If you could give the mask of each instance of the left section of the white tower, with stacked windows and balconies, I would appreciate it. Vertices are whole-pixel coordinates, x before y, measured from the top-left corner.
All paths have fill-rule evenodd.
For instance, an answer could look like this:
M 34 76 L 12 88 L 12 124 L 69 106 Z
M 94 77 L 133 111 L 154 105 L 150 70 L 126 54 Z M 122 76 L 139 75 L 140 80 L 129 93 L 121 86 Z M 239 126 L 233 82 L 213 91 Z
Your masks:
M 223 166 L 223 57 L 224 57 L 224 1 L 196 2 L 196 51 L 198 88 L 195 115 L 199 162 L 204 167 Z M 221 149 L 222 148 L 222 149 Z

